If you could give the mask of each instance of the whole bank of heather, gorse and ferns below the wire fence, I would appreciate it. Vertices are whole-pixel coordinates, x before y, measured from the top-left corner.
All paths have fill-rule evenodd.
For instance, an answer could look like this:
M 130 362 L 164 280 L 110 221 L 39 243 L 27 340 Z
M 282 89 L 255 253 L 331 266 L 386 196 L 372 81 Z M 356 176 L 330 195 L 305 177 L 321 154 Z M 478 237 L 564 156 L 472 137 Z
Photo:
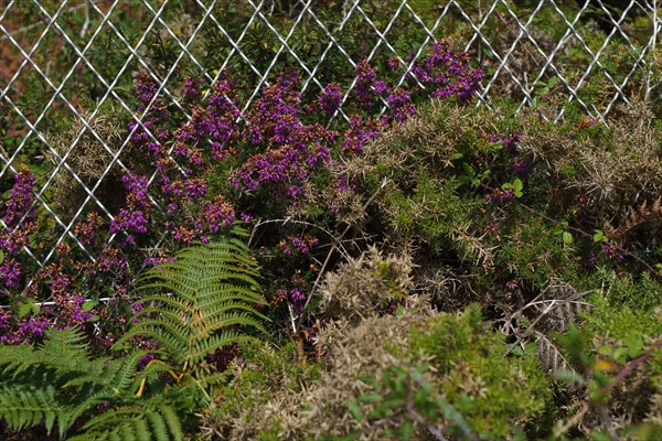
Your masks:
M 183 77 L 190 119 L 137 74 L 145 118 L 98 121 L 131 146 L 99 183 L 113 220 L 74 228 L 93 259 L 65 240 L 34 263 L 23 247 L 57 233 L 21 170 L 0 212 L 3 439 L 660 438 L 651 103 L 605 122 L 546 120 L 554 87 L 476 107 L 484 72 L 449 41 L 402 71 L 365 60 L 313 94 L 284 69 L 244 114 L 242 73 Z

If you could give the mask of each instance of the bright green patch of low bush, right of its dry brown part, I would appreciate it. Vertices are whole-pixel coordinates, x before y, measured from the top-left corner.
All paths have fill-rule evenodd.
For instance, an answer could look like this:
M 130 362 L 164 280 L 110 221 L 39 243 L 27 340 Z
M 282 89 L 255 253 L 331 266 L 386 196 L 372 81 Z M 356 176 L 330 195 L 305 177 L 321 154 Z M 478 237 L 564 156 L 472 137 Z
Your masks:
M 503 336 L 488 326 L 477 306 L 460 315 L 434 315 L 412 329 L 403 356 L 414 366 L 418 357 L 427 361 L 430 384 L 479 439 L 511 438 L 517 430 L 535 433 L 547 417 L 548 381 L 535 355 L 505 357 Z M 444 408 L 428 418 L 449 435 L 467 435 Z

